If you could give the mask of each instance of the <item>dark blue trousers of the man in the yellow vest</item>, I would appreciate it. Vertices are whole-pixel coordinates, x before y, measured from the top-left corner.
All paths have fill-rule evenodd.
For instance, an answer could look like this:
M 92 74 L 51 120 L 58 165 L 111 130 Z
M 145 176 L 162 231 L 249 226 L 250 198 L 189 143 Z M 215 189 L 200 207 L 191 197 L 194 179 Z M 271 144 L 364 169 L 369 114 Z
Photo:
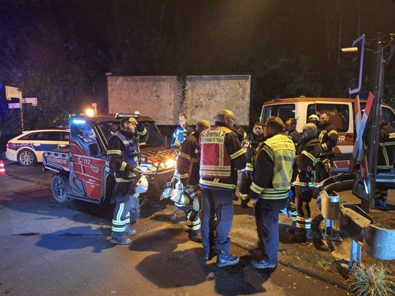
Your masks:
M 279 245 L 278 212 L 285 208 L 287 199 L 259 198 L 255 205 L 256 228 L 264 261 L 276 264 Z

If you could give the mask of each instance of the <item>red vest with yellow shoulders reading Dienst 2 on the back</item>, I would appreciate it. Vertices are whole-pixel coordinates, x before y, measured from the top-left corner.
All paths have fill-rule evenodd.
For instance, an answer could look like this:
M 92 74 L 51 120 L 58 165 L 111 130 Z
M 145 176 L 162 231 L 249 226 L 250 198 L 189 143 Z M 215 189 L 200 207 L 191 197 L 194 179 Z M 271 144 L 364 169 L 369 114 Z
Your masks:
M 213 126 L 200 134 L 200 177 L 227 178 L 231 175 L 231 156 L 225 136 L 232 132 L 224 126 Z M 244 150 L 242 150 L 244 153 Z

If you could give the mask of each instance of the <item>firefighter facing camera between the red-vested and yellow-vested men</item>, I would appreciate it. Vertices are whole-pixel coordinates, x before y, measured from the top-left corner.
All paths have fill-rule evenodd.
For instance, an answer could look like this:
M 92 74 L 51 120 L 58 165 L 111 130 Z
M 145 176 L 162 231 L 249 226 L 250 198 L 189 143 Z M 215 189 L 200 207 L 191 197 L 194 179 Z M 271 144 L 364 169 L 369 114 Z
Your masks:
M 242 208 L 247 208 L 249 203 L 249 186 L 251 186 L 253 175 L 253 159 L 260 143 L 264 141 L 264 130 L 261 122 L 253 125 L 253 132 L 242 142 L 242 147 L 246 151 L 247 164 L 244 170 L 240 171 L 238 186 L 240 190 L 240 199 Z

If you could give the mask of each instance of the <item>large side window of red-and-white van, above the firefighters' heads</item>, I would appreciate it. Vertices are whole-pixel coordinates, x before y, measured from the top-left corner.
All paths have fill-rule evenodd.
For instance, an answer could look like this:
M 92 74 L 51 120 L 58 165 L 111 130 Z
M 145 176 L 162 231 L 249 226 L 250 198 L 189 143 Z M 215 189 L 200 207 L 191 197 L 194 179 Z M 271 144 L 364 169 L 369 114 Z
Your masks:
M 310 115 L 327 113 L 331 123 L 336 126 L 338 132 L 347 132 L 349 126 L 349 106 L 334 103 L 311 103 L 307 106 L 307 118 Z M 306 118 L 306 121 L 307 121 Z

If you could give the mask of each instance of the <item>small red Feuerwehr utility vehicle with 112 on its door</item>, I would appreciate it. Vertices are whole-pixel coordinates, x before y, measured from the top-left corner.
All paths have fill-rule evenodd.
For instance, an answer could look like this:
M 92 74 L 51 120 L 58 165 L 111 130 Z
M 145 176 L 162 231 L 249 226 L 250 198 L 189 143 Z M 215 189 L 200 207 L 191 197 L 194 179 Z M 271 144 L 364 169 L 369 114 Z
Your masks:
M 135 115 L 70 116 L 70 148 L 44 151 L 44 169 L 53 170 L 51 189 L 59 202 L 70 198 L 95 204 L 109 202 L 115 177 L 106 164 L 108 141 L 117 132 L 121 117 L 135 117 L 147 132 L 140 143 L 141 169 L 148 179 L 146 196 L 155 201 L 171 196 L 175 150 L 168 150 L 155 121 Z

